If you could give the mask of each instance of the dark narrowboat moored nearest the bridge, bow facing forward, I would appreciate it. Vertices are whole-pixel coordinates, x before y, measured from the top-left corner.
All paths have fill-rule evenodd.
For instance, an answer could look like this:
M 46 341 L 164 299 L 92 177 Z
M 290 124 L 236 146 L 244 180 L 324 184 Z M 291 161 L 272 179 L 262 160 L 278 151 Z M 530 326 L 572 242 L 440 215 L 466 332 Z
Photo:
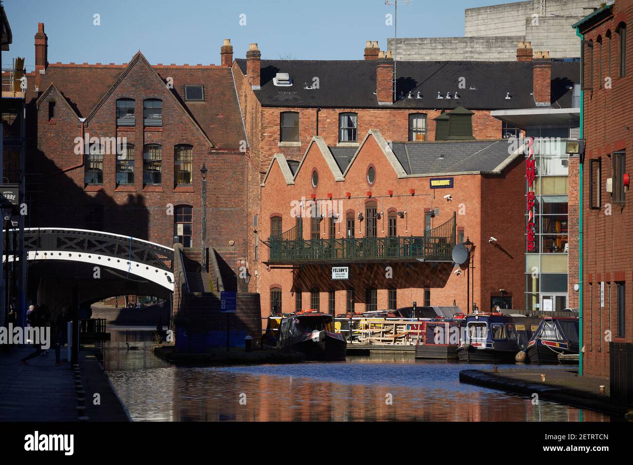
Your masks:
M 334 318 L 317 310 L 292 313 L 281 320 L 277 348 L 301 352 L 307 360 L 345 360 L 347 342 L 334 332 Z

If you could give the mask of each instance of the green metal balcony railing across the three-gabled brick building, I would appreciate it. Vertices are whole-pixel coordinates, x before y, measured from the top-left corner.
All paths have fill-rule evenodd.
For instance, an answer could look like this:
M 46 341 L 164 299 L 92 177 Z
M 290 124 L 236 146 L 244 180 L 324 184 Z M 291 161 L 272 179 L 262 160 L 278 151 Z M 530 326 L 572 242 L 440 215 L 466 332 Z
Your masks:
M 455 245 L 455 214 L 423 236 L 301 239 L 302 222 L 270 237 L 270 262 L 382 261 L 418 259 L 450 261 Z

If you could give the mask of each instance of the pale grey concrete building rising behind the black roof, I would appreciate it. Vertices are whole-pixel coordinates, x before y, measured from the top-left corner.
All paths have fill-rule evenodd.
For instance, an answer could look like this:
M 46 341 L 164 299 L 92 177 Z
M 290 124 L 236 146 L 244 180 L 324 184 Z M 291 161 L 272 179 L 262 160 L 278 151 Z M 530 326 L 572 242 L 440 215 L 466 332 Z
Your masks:
M 579 58 L 573 23 L 597 0 L 530 0 L 465 10 L 464 37 L 387 40 L 397 61 L 514 61 L 519 42 L 551 58 Z

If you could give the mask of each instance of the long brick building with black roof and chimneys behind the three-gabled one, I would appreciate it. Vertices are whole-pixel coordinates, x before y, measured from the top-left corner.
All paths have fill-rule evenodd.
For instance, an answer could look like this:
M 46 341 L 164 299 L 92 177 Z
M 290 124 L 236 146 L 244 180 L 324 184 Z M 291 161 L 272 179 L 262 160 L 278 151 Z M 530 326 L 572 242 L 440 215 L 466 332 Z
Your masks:
M 229 52 L 232 48 L 225 50 L 227 61 Z M 388 141 L 459 140 L 462 135 L 448 132 L 446 113 L 460 107 L 472 112 L 470 138 L 518 135 L 518 128 L 493 118 L 491 111 L 569 106 L 563 101 L 571 99 L 568 84 L 577 80 L 579 68 L 578 63 L 550 61 L 544 72 L 540 62 L 532 61 L 529 43 L 522 43 L 513 63 L 399 61 L 394 93 L 389 54 L 377 42 L 367 42 L 364 52 L 360 61 L 267 60 L 251 44 L 246 59 L 235 59 L 251 187 L 261 182 L 275 154 L 298 163 L 315 135 L 326 146 L 354 150 L 370 128 Z M 260 226 L 269 218 L 261 204 L 264 192 L 250 189 L 248 195 L 253 231 L 248 258 L 253 264 L 266 259 L 260 240 L 267 235 Z M 251 290 L 268 294 L 260 277 L 251 274 Z

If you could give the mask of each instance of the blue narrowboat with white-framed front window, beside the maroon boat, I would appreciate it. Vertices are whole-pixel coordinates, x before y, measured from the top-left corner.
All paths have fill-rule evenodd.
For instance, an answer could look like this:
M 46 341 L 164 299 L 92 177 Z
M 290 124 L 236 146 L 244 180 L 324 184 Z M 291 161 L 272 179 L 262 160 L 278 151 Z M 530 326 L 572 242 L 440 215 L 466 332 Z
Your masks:
M 515 363 L 539 319 L 501 313 L 467 315 L 457 354 L 461 362 Z

